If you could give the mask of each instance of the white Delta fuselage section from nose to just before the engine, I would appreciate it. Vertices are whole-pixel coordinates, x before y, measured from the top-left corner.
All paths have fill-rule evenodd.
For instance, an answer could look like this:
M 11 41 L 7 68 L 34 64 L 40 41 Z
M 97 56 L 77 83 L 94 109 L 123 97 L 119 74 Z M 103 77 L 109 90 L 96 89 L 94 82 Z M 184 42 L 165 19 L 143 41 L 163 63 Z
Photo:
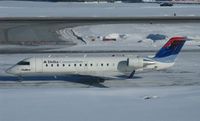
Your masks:
M 24 61 L 30 65 L 16 64 L 10 73 L 16 75 L 32 74 L 80 74 L 90 75 L 95 72 L 127 72 L 130 71 L 126 66 L 126 57 L 46 57 L 29 58 Z M 121 64 L 119 64 L 121 62 Z M 121 65 L 121 67 L 119 67 Z M 123 66 L 122 66 L 123 65 Z M 132 69 L 134 70 L 134 69 Z

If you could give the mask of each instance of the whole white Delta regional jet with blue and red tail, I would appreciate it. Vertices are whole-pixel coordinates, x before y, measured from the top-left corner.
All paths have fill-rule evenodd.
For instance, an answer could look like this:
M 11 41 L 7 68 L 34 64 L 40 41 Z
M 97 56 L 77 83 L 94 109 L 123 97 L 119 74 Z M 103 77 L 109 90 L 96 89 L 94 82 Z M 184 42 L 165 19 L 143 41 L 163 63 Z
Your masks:
M 162 70 L 174 65 L 186 37 L 172 37 L 153 57 L 32 57 L 6 72 L 25 75 L 77 75 L 106 77 L 119 74 L 132 78 L 135 72 Z

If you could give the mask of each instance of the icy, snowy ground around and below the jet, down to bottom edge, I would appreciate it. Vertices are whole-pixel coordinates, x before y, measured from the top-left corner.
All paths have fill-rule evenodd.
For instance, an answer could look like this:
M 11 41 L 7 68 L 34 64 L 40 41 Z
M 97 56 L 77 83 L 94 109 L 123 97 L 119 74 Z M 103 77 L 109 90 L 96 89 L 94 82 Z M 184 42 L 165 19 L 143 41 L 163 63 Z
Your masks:
M 135 54 L 135 53 L 126 53 Z M 153 53 L 137 53 L 152 55 Z M 200 118 L 199 52 L 181 52 L 166 71 L 111 80 L 111 88 L 82 88 L 66 81 L 9 82 L 5 69 L 21 59 L 48 54 L 0 55 L 1 121 L 196 121 Z M 54 54 L 51 56 L 81 56 Z M 88 56 L 110 56 L 112 53 Z M 56 82 L 58 81 L 58 82 Z M 7 83 L 8 82 L 8 83 Z M 6 85 L 7 83 L 7 85 Z M 93 86 L 91 86 L 93 87 Z

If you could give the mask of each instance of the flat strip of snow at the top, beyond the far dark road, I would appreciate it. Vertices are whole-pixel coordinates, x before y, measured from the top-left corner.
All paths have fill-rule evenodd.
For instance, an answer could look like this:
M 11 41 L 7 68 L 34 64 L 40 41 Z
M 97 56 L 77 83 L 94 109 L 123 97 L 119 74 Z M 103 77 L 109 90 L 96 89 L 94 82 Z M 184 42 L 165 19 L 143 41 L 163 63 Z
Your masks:
M 199 5 L 157 3 L 66 3 L 0 1 L 1 17 L 96 17 L 96 16 L 200 16 Z

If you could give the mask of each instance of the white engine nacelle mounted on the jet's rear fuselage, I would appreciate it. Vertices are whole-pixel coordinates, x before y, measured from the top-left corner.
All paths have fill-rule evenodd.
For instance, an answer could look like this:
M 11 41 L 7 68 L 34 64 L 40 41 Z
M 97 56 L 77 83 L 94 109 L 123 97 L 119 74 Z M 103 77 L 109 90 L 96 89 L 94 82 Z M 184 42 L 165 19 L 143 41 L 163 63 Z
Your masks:
M 142 68 L 144 65 L 143 58 L 128 58 L 127 66 L 135 69 Z

